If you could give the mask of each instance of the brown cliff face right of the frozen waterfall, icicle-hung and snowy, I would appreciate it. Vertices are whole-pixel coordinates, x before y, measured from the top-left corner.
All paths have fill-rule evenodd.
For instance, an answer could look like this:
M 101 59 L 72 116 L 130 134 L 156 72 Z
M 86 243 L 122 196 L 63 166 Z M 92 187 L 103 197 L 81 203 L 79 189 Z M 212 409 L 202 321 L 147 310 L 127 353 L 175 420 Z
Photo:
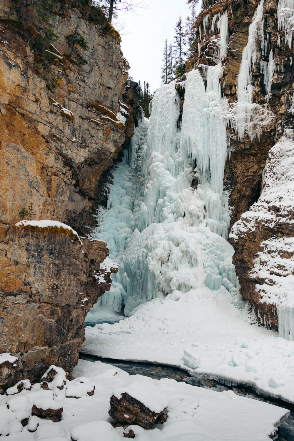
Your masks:
M 221 86 L 230 112 L 234 112 L 237 102 L 238 74 L 242 52 L 248 42 L 249 25 L 260 3 L 257 0 L 216 2 L 202 11 L 197 19 L 198 48 L 190 60 L 190 67 L 199 66 L 201 71 L 201 64 L 223 64 Z M 278 329 L 277 307 L 281 306 L 281 299 L 273 294 L 271 287 L 284 287 L 280 289 L 282 292 L 286 286 L 285 277 L 294 274 L 290 265 L 293 250 L 288 243 L 289 237 L 293 236 L 290 227 L 293 205 L 283 194 L 290 192 L 291 183 L 286 177 L 282 179 L 283 185 L 279 180 L 279 173 L 285 173 L 285 164 L 291 167 L 294 155 L 293 145 L 291 147 L 290 141 L 289 146 L 287 140 L 293 138 L 294 51 L 293 33 L 287 33 L 281 25 L 283 16 L 279 13 L 279 3 L 279 0 L 263 1 L 261 29 L 254 36 L 253 46 L 257 53 L 251 73 L 255 106 L 247 110 L 244 136 L 237 133 L 234 125 L 228 124 L 230 150 L 224 175 L 224 188 L 229 193 L 231 207 L 231 227 L 241 217 L 233 227 L 230 239 L 235 248 L 233 262 L 241 294 L 253 305 L 261 324 L 275 329 Z M 228 17 L 228 46 L 222 56 L 223 14 Z M 205 79 L 205 71 L 203 77 Z M 281 144 L 276 144 L 279 139 Z M 282 166 L 279 155 L 285 160 L 285 149 L 288 162 L 282 161 Z M 273 175 L 275 179 L 270 179 Z M 269 182 L 275 187 L 272 193 L 266 191 Z M 279 242 L 276 249 L 272 242 L 267 243 L 272 238 Z M 271 255 L 272 260 L 266 258 L 266 254 Z

